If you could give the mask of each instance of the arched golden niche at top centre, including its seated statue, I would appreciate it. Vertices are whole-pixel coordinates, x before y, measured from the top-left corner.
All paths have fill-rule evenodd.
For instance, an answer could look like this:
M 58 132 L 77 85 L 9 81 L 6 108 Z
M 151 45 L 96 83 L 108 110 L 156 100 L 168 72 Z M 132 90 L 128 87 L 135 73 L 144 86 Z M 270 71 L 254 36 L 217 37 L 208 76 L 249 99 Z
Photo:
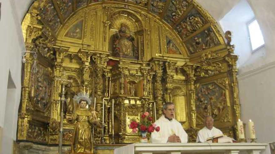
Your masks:
M 133 12 L 120 10 L 108 16 L 109 51 L 114 57 L 141 59 L 144 56 L 144 29 Z

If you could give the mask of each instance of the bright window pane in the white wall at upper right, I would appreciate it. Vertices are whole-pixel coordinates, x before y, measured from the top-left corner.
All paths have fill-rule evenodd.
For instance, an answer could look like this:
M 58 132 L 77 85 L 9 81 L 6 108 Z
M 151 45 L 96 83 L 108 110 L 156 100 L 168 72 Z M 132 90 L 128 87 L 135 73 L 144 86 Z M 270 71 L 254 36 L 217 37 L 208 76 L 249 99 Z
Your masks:
M 249 29 L 252 50 L 255 50 L 264 44 L 262 32 L 257 20 L 252 21 L 248 25 L 248 29 Z

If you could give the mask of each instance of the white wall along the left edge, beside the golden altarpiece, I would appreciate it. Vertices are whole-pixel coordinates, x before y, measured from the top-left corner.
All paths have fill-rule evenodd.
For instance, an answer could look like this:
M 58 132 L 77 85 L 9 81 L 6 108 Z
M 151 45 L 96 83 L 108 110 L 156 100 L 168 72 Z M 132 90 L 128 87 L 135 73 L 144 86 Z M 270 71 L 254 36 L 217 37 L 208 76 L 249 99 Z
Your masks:
M 17 114 L 21 95 L 21 51 L 24 50 L 24 42 L 14 5 L 10 0 L 0 0 L 0 2 L 2 3 L 0 21 L 0 127 L 2 138 L 0 140 L 2 140 L 2 150 L 4 150 L 0 153 L 9 154 L 12 152 L 10 151 L 12 140 L 16 140 Z M 9 71 L 16 88 L 7 93 Z

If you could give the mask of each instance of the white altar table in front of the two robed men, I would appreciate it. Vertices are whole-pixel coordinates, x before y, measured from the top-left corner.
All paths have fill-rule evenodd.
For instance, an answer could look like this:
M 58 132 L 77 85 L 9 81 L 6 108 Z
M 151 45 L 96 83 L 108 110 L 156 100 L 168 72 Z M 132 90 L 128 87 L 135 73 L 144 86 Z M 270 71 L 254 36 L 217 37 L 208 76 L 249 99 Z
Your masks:
M 114 154 L 226 153 L 260 154 L 266 143 L 134 143 L 116 148 Z

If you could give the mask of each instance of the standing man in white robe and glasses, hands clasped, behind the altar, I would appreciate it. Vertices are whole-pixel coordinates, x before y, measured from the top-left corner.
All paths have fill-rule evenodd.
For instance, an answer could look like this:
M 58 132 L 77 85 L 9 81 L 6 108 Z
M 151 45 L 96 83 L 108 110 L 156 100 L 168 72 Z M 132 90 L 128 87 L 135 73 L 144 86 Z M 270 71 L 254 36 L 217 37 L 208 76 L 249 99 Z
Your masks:
M 182 125 L 174 119 L 175 105 L 171 102 L 163 105 L 163 113 L 156 122 L 156 126 L 160 127 L 160 131 L 154 131 L 151 134 L 152 143 L 187 143 L 187 133 Z

